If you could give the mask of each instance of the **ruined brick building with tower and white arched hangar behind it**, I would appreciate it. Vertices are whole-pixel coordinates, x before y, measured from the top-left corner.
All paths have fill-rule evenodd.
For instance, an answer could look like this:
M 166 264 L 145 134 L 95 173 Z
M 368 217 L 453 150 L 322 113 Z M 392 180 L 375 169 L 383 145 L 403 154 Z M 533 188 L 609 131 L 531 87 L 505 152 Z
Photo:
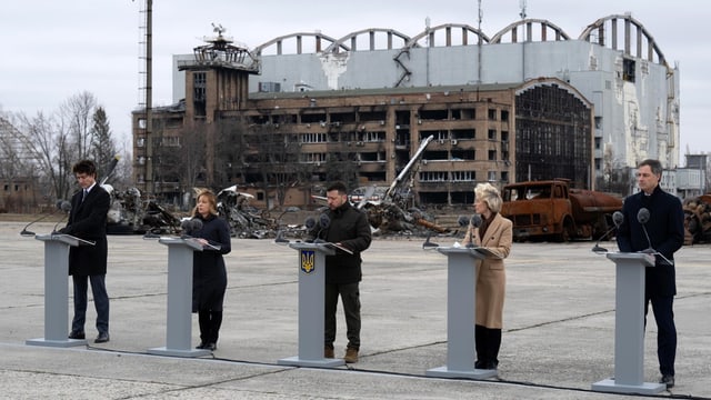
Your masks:
M 174 66 L 174 104 L 152 110 L 150 131 L 133 113 L 136 182 L 167 199 L 237 184 L 270 208 L 302 206 L 334 172 L 388 186 L 429 136 L 411 183 L 422 204 L 471 203 L 483 181 L 611 188 L 642 159 L 679 164 L 679 71 L 630 14 L 577 38 L 524 19 L 491 37 L 448 23 L 249 50 L 220 31 Z M 178 149 L 191 136 L 206 151 L 186 179 L 170 166 L 190 169 Z

